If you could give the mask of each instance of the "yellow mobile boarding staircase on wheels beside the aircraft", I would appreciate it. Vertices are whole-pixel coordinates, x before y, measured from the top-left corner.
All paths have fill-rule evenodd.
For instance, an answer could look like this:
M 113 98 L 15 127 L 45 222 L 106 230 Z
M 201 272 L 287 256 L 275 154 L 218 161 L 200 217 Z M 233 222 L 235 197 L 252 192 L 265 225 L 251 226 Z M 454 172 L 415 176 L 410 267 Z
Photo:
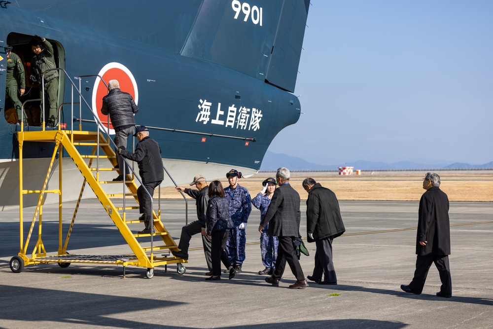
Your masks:
M 59 69 L 65 72 L 63 69 Z M 65 73 L 67 75 L 67 73 Z M 70 80 L 70 77 L 67 75 L 67 78 Z M 101 78 L 101 77 L 100 77 Z M 70 80 L 70 82 L 72 82 Z M 73 82 L 72 88 L 77 89 Z M 78 90 L 77 90 L 78 92 Z M 73 94 L 73 93 L 72 93 Z M 82 99 L 79 93 L 79 99 Z M 85 102 L 85 100 L 84 100 Z M 86 102 L 85 102 L 86 103 Z M 73 112 L 73 97 L 72 97 L 72 112 Z M 80 104 L 80 102 L 79 102 Z M 86 103 L 87 105 L 87 103 Z M 88 105 L 87 105 L 88 106 Z M 89 106 L 88 106 L 89 107 Z M 44 112 L 44 111 L 43 111 Z M 59 116 L 60 117 L 60 116 Z M 72 115 L 73 117 L 73 115 Z M 102 124 L 99 121 L 99 118 L 96 118 L 99 124 Z M 22 122 L 22 121 L 21 121 Z M 178 250 L 176 243 L 173 238 L 167 231 L 166 227 L 161 222 L 161 210 L 159 209 L 156 214 L 153 212 L 153 230 L 151 234 L 136 234 L 133 233 L 129 224 L 140 223 L 143 222 L 141 219 L 137 220 L 128 220 L 126 219 L 126 210 L 130 209 L 139 209 L 139 206 L 126 206 L 126 197 L 133 196 L 134 199 L 138 202 L 137 199 L 137 185 L 136 180 L 139 180 L 135 175 L 135 172 L 132 168 L 129 168 L 132 174 L 129 174 L 125 177 L 123 182 L 113 182 L 113 181 L 101 181 L 100 180 L 100 171 L 113 171 L 116 170 L 114 167 L 116 166 L 117 159 L 116 155 L 113 151 L 114 143 L 109 138 L 109 135 L 106 135 L 99 130 L 97 131 L 82 131 L 81 124 L 79 123 L 79 130 L 62 130 L 61 125 L 58 125 L 57 130 L 45 130 L 44 129 L 44 118 L 43 118 L 43 128 L 41 131 L 24 131 L 23 126 L 21 125 L 21 130 L 17 133 L 17 140 L 19 143 L 19 207 L 20 207 L 20 252 L 18 256 L 12 257 L 10 260 L 10 269 L 15 273 L 20 273 L 25 265 L 31 264 L 41 264 L 41 263 L 58 263 L 61 267 L 68 267 L 70 263 L 104 263 L 104 264 L 117 264 L 123 265 L 124 271 L 123 276 L 125 277 L 125 266 L 133 265 L 140 266 L 146 268 L 145 276 L 147 278 L 152 278 L 154 276 L 154 267 L 167 265 L 176 263 L 177 264 L 177 272 L 179 274 L 183 274 L 186 271 L 186 268 L 182 265 L 182 263 L 186 263 L 187 260 L 182 258 L 176 258 L 171 253 L 166 253 L 169 250 Z M 22 149 L 24 143 L 26 142 L 46 142 L 46 143 L 55 143 L 55 147 L 53 150 L 53 154 L 51 156 L 51 161 L 49 164 L 49 168 L 46 173 L 46 178 L 40 190 L 26 190 L 23 189 L 23 154 Z M 113 144 L 113 145 L 111 145 Z M 77 146 L 92 146 L 92 153 L 90 155 L 79 153 Z M 84 182 L 82 183 L 79 199 L 76 204 L 72 220 L 70 222 L 70 226 L 66 233 L 65 242 L 63 242 L 63 230 L 62 230 L 62 159 L 63 154 L 65 152 L 70 156 L 73 160 L 76 167 L 79 169 L 80 173 L 84 178 Z M 100 155 L 100 151 L 104 153 L 104 155 Z M 55 161 L 55 158 L 59 154 L 59 189 L 48 190 L 47 184 L 49 178 L 52 176 L 52 167 Z M 110 168 L 100 168 L 99 167 L 99 159 L 107 159 L 107 162 L 110 163 L 112 167 Z M 96 167 L 93 167 L 93 160 L 96 160 Z M 87 161 L 87 162 L 86 162 Z M 105 161 L 105 163 L 107 163 Z M 164 170 L 166 168 L 163 167 Z M 166 170 L 168 173 L 168 171 Z M 169 173 L 168 173 L 169 174 Z M 171 178 L 171 176 L 170 176 Z M 173 179 L 172 179 L 173 180 Z M 141 183 L 141 181 L 139 180 Z M 127 242 L 128 246 L 131 248 L 133 254 L 130 255 L 117 255 L 117 256 L 86 256 L 86 255 L 70 255 L 67 252 L 67 246 L 70 239 L 70 234 L 75 222 L 75 217 L 77 214 L 78 206 L 80 200 L 82 198 L 82 193 L 84 191 L 86 183 L 91 187 L 94 191 L 94 194 L 99 199 L 101 204 L 106 210 L 106 213 L 114 222 L 121 235 Z M 122 186 L 121 194 L 114 193 L 106 193 L 103 186 L 107 184 L 124 184 L 129 193 L 125 193 L 125 188 Z M 146 190 L 144 189 L 144 192 Z M 23 232 L 23 197 L 26 194 L 37 193 L 38 202 L 35 208 L 35 214 L 33 216 L 31 226 L 29 232 L 27 234 L 27 238 L 24 241 L 24 232 Z M 59 245 L 58 251 L 56 255 L 49 256 L 47 251 L 45 250 L 41 232 L 42 232 L 42 207 L 44 203 L 44 199 L 46 197 L 46 193 L 56 193 L 59 194 Z M 117 207 L 112 201 L 111 198 L 122 198 L 123 199 L 123 207 Z M 120 213 L 122 212 L 122 213 Z M 35 247 L 31 254 L 28 253 L 28 245 L 33 235 L 35 229 L 36 219 L 38 220 L 38 237 L 35 243 Z M 140 238 L 150 237 L 149 242 L 139 241 Z M 161 241 L 161 244 L 155 245 L 154 237 L 158 237 Z M 147 240 L 145 239 L 145 240 Z M 159 256 L 156 253 L 160 254 Z

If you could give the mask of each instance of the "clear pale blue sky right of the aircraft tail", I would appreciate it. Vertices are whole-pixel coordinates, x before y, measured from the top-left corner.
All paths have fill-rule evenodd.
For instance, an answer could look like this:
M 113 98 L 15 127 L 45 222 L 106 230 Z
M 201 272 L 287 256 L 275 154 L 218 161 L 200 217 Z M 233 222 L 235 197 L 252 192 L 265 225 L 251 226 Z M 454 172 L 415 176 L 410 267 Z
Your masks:
M 312 0 L 269 150 L 320 164 L 493 161 L 493 0 Z

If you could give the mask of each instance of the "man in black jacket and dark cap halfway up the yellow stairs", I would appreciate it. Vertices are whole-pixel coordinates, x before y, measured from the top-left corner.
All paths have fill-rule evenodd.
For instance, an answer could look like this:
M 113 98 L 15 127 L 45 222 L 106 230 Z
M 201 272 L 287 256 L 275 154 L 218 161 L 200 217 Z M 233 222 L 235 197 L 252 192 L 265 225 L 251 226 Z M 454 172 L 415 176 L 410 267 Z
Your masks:
M 123 157 L 137 161 L 139 166 L 139 175 L 141 176 L 142 185 L 137 189 L 137 199 L 145 228 L 137 234 L 150 234 L 152 232 L 152 196 L 154 188 L 159 185 L 164 178 L 163 160 L 161 159 L 161 147 L 156 141 L 149 137 L 149 130 L 145 126 L 137 126 L 136 133 L 139 143 L 135 147 L 135 152 L 129 152 L 125 149 L 118 148 L 117 152 Z

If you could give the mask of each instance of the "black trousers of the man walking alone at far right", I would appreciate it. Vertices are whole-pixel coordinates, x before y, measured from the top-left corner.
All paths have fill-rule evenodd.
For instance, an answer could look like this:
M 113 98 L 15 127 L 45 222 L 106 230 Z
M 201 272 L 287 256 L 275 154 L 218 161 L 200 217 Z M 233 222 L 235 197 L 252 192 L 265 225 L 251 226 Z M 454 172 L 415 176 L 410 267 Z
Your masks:
M 424 282 L 428 276 L 428 270 L 432 263 L 435 263 L 442 286 L 440 292 L 452 294 L 452 279 L 450 277 L 449 256 L 418 256 L 416 259 L 416 270 L 414 272 L 413 281 L 409 284 L 409 288 L 417 293 L 423 292 Z

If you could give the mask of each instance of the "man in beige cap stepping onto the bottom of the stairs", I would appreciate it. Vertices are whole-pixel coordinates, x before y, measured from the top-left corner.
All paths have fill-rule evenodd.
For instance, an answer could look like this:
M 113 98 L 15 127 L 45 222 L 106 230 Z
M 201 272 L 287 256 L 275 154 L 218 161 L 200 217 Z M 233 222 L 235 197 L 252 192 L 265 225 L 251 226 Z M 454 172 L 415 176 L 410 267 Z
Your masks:
M 206 256 L 207 267 L 209 272 L 206 275 L 212 275 L 212 260 L 211 260 L 211 240 L 207 237 L 206 221 L 207 221 L 207 206 L 209 205 L 209 185 L 207 180 L 202 175 L 197 175 L 193 178 L 193 182 L 190 186 L 195 185 L 197 189 L 191 189 L 182 186 L 176 186 L 177 191 L 182 191 L 195 199 L 195 206 L 197 207 L 197 220 L 192 221 L 188 225 L 181 228 L 180 242 L 178 249 L 180 251 L 171 251 L 175 257 L 188 259 L 188 247 L 190 246 L 190 239 L 192 235 L 197 233 L 202 234 L 202 245 L 204 246 L 204 254 Z

